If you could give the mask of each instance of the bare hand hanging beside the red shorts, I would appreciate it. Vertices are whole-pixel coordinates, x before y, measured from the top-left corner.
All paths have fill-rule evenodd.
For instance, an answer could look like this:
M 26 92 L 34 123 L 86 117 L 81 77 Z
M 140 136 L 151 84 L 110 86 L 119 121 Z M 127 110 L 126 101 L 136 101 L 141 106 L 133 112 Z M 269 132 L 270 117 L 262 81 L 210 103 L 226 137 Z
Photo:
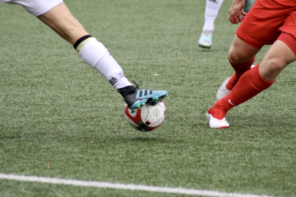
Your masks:
M 229 17 L 228 17 L 229 21 L 232 24 L 238 24 L 242 22 L 244 17 L 247 15 L 247 13 L 243 11 L 243 9 L 244 9 L 244 0 L 233 1 L 232 6 L 229 9 Z

